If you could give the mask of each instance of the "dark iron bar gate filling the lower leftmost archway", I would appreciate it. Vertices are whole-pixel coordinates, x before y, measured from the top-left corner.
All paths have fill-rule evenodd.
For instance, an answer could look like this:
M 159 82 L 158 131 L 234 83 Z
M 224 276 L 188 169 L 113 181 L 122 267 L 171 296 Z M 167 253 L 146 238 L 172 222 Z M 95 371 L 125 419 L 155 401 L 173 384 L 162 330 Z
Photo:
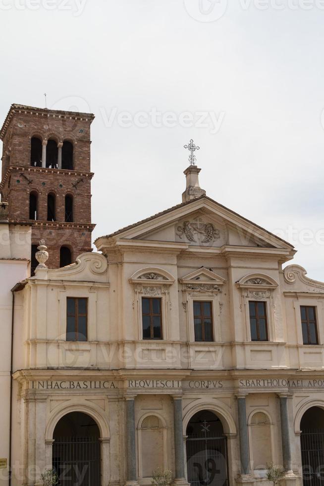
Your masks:
M 100 486 L 100 442 L 97 437 L 58 437 L 53 469 L 59 486 Z

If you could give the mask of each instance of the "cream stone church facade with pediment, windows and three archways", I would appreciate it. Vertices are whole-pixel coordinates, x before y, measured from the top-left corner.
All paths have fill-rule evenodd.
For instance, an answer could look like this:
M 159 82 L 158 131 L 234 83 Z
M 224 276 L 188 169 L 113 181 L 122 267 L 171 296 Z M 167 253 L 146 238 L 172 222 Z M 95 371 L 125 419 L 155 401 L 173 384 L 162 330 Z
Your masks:
M 54 468 L 62 486 L 150 485 L 157 469 L 172 485 L 261 486 L 271 463 L 286 485 L 321 483 L 324 283 L 199 172 L 180 204 L 75 263 L 50 268 L 40 242 L 12 289 L 10 484 Z

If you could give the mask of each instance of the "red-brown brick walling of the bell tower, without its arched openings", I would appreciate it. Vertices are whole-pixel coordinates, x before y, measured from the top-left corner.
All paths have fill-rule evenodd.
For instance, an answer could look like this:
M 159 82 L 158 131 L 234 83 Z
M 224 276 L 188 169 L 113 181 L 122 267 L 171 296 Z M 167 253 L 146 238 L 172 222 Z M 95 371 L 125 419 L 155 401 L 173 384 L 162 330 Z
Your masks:
M 12 108 L 11 108 L 12 110 Z M 19 113 L 20 112 L 20 113 Z M 29 220 L 29 198 L 37 194 L 37 221 L 32 221 L 32 244 L 44 239 L 49 247 L 49 268 L 59 267 L 59 250 L 68 246 L 72 261 L 91 251 L 90 124 L 93 116 L 38 109 L 17 110 L 2 128 L 1 199 L 9 204 L 9 220 Z M 80 120 L 82 118 L 82 120 Z M 73 144 L 73 170 L 30 165 L 31 139 L 65 140 Z M 47 221 L 48 194 L 55 196 L 55 222 Z M 65 196 L 73 197 L 73 222 L 65 222 Z

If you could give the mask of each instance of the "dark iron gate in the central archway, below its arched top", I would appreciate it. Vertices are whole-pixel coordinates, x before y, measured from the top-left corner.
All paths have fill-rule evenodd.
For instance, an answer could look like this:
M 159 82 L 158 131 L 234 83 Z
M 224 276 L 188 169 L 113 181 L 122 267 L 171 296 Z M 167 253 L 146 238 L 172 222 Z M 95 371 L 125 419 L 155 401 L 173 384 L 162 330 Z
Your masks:
M 208 435 L 187 438 L 188 482 L 192 486 L 228 486 L 227 438 Z

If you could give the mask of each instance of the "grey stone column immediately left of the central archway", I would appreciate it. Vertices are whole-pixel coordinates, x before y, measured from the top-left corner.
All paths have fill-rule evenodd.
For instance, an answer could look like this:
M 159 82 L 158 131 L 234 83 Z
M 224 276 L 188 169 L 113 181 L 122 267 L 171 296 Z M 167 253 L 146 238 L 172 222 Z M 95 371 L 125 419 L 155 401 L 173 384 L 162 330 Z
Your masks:
M 175 478 L 173 484 L 185 484 L 187 481 L 184 474 L 184 451 L 183 451 L 183 430 L 182 430 L 182 397 L 173 397 L 173 428 L 174 428 L 174 461 Z

